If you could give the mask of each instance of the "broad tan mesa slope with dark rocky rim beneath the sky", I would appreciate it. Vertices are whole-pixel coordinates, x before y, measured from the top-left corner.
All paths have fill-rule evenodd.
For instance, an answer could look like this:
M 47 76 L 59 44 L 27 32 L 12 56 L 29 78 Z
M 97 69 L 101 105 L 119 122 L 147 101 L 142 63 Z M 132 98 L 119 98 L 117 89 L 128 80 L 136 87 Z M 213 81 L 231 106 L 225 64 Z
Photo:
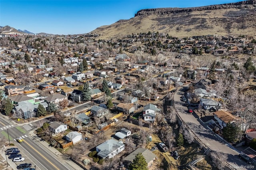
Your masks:
M 255 35 L 256 0 L 197 8 L 156 8 L 138 11 L 130 20 L 119 20 L 90 32 L 98 38 L 121 38 L 142 32 L 170 36 Z

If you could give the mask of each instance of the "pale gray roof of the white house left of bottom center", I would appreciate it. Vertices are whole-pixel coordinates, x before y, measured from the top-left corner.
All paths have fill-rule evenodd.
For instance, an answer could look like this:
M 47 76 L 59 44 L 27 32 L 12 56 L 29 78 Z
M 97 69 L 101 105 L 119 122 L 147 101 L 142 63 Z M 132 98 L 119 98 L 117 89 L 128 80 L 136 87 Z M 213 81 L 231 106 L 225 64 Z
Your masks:
M 122 141 L 118 142 L 118 140 L 115 140 L 115 139 L 106 140 L 102 144 L 96 146 L 96 148 L 100 150 L 100 152 L 98 152 L 97 155 L 102 158 L 106 158 L 108 154 L 110 154 L 120 146 L 124 146 Z

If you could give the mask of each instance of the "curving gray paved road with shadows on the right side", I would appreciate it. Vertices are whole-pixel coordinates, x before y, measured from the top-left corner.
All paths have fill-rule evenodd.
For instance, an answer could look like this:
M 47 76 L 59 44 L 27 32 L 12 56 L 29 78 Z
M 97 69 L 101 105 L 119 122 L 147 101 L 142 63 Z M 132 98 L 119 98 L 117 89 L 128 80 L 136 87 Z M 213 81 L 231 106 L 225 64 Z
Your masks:
M 190 127 L 190 129 L 200 138 L 204 144 L 206 144 L 211 150 L 223 152 L 228 154 L 228 162 L 235 166 L 246 166 L 242 161 L 238 152 L 233 148 L 230 148 L 228 144 L 219 139 L 212 131 L 206 128 L 206 125 L 200 123 L 200 121 L 192 114 L 188 113 L 188 108 L 184 105 L 181 96 L 184 95 L 186 87 L 179 89 L 174 95 L 174 106 L 182 120 Z M 242 170 L 242 169 L 239 169 Z

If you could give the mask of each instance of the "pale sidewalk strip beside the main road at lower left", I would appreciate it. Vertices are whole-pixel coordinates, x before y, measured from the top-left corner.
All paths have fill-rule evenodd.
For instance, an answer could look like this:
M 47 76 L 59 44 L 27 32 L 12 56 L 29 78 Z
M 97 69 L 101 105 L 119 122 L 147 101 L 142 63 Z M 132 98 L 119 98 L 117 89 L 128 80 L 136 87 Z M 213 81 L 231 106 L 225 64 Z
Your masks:
M 61 160 L 63 160 L 64 162 L 66 162 L 69 166 L 71 166 L 74 170 L 82 170 L 82 168 L 80 166 L 78 166 L 75 162 L 73 162 L 72 160 L 70 160 L 69 156 L 60 153 L 58 150 L 56 150 L 53 147 L 50 147 L 49 144 L 47 142 L 45 142 L 44 140 L 41 140 L 40 137 L 38 137 L 36 134 L 34 134 L 34 130 L 31 130 L 29 132 L 29 136 L 32 138 L 32 140 L 36 140 L 39 144 L 42 145 L 42 147 L 44 149 L 46 149 L 47 151 L 52 152 L 56 157 L 56 159 L 58 159 L 60 162 Z

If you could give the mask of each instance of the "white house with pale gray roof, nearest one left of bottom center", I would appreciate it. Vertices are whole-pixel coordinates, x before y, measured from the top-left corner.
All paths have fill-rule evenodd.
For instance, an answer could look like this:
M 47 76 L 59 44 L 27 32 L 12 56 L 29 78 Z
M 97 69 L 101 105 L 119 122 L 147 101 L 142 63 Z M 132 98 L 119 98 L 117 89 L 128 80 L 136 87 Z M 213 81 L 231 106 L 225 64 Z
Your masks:
M 122 150 L 124 150 L 123 142 L 115 139 L 107 140 L 96 146 L 97 155 L 101 158 L 113 158 L 118 153 L 122 152 Z

